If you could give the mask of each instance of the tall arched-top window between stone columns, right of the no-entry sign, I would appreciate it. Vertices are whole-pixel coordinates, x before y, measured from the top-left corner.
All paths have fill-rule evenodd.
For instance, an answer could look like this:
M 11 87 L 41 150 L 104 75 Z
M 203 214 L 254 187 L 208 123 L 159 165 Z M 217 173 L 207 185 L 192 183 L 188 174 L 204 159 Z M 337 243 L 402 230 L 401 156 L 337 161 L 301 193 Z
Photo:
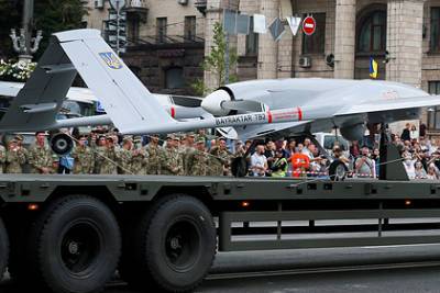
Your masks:
M 359 53 L 384 53 L 386 50 L 386 11 L 375 10 L 361 22 Z

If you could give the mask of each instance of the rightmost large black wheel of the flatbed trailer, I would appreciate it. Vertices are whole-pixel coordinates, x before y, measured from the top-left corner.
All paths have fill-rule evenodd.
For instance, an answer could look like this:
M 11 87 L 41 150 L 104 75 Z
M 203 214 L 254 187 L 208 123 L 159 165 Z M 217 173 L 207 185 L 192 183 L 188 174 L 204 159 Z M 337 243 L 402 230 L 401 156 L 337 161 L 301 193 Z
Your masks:
M 216 228 L 197 199 L 173 195 L 146 213 L 141 224 L 141 258 L 161 289 L 187 292 L 208 274 L 216 256 Z

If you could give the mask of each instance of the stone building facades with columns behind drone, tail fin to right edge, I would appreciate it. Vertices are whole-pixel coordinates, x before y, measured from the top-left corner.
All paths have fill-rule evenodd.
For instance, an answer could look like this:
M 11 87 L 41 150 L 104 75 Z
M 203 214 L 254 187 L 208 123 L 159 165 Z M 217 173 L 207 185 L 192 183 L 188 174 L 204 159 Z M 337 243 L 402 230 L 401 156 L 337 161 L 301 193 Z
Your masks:
M 264 14 L 268 23 L 275 18 L 308 14 L 317 21 L 317 31 L 311 36 L 301 32 L 293 36 L 287 32 L 278 42 L 270 34 L 232 36 L 230 44 L 239 56 L 235 70 L 240 80 L 365 79 L 373 57 L 378 61 L 378 79 L 405 82 L 440 94 L 440 0 L 141 2 L 146 8 L 144 14 L 128 15 L 131 43 L 124 59 L 156 91 L 178 90 L 167 86 L 167 80 L 177 76 L 194 80 L 205 75 L 207 86 L 217 87 L 217 78 L 210 72 L 204 74 L 198 65 L 202 52 L 206 56 L 211 49 L 213 23 L 222 20 L 223 9 L 232 9 L 250 15 Z M 99 25 L 99 22 L 90 21 L 90 25 Z M 196 36 L 189 37 L 194 42 L 185 41 L 188 34 Z M 183 38 L 174 37 L 177 35 Z M 190 93 L 190 89 L 184 88 L 182 92 Z M 440 108 L 427 111 L 424 122 L 430 132 L 440 132 Z

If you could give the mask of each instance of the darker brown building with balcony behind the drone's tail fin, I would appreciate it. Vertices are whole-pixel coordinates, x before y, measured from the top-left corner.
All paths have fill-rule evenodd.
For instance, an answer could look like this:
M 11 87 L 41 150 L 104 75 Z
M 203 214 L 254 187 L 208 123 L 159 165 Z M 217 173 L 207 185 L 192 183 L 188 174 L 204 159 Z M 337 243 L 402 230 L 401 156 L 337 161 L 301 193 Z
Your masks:
M 194 0 L 127 0 L 125 64 L 152 92 L 194 94 L 204 78 L 205 16 Z M 106 31 L 109 1 L 87 2 L 87 27 Z

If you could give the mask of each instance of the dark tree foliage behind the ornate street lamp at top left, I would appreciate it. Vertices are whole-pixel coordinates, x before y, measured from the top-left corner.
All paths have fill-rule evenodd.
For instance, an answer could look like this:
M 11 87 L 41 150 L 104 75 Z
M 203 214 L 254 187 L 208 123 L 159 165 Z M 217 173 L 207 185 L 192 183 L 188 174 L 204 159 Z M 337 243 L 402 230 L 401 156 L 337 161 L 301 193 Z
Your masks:
M 9 36 L 11 29 L 20 29 L 23 1 L 0 0 L 0 57 L 16 56 Z M 87 10 L 80 0 L 35 0 L 34 1 L 34 34 L 43 31 L 43 40 L 38 53 L 42 54 L 48 44 L 51 34 L 59 31 L 82 27 L 82 16 Z M 2 55 L 2 56 L 1 56 Z M 35 57 L 37 57 L 36 54 Z

